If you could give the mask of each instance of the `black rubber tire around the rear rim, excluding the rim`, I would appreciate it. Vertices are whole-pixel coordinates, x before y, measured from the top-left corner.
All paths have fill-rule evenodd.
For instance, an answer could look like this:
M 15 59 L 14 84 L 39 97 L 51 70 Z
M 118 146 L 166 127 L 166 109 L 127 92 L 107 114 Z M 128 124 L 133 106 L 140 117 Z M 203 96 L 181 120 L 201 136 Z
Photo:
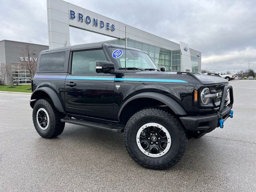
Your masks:
M 46 130 L 42 130 L 37 124 L 36 114 L 40 108 L 44 108 L 49 116 L 49 126 Z M 43 138 L 49 139 L 56 137 L 60 135 L 64 130 L 65 123 L 60 121 L 64 115 L 55 108 L 50 98 L 37 100 L 33 108 L 32 116 L 36 131 Z

